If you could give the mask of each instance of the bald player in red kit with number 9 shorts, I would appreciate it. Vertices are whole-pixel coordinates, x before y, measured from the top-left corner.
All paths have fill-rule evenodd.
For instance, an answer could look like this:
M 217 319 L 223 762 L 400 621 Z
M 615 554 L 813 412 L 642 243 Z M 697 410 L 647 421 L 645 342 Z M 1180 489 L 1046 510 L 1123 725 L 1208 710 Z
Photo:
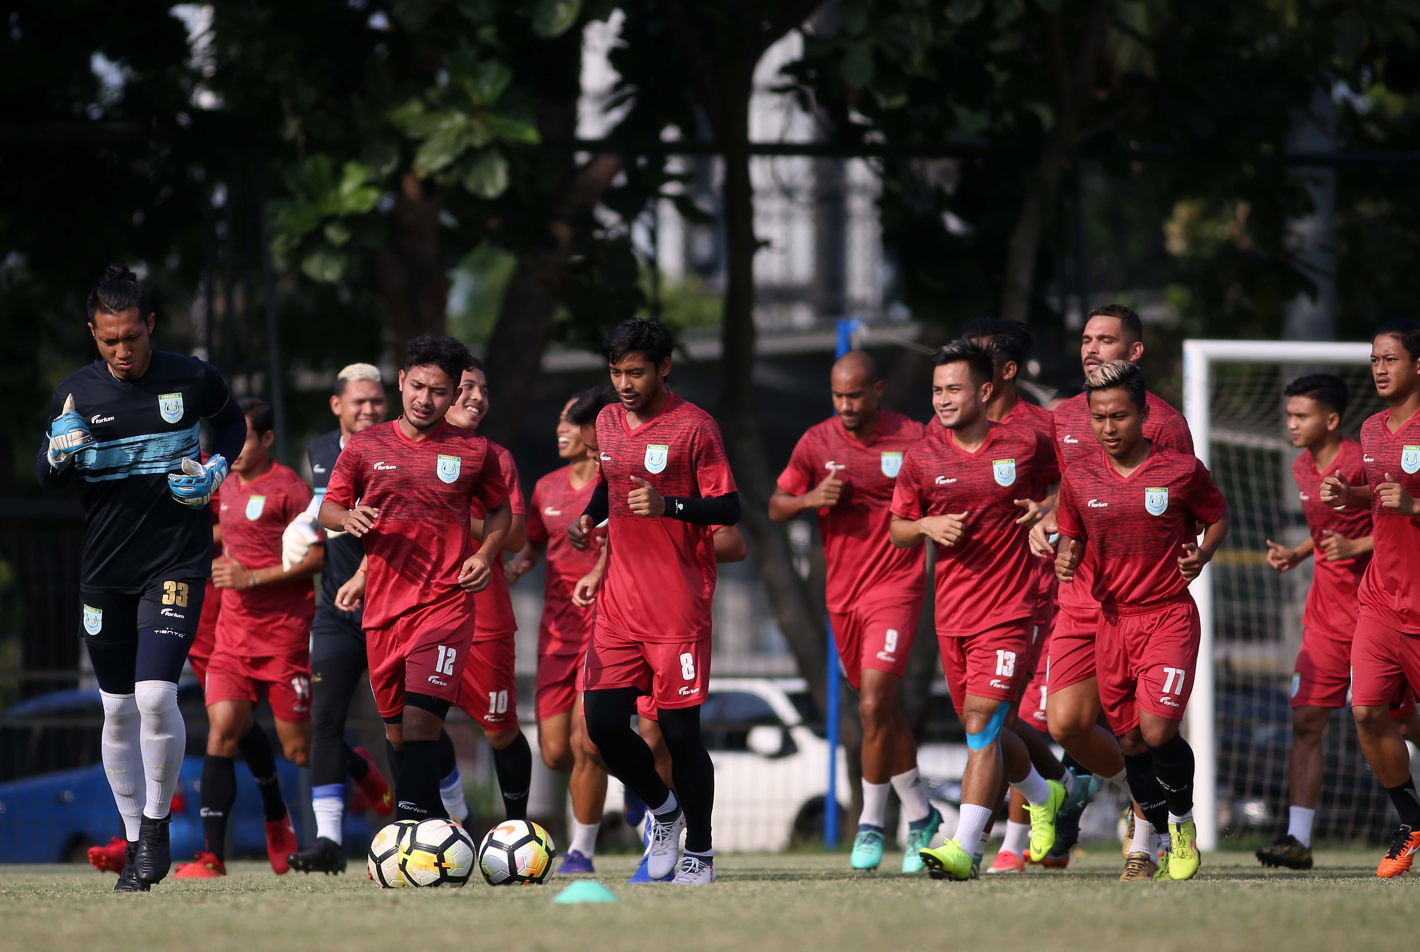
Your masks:
M 927 575 L 923 549 L 892 545 L 888 524 L 903 454 L 926 430 L 878 406 L 883 383 L 862 350 L 834 363 L 828 386 L 835 414 L 799 437 L 770 497 L 770 518 L 788 522 L 818 512 L 834 640 L 863 722 L 863 810 L 849 864 L 876 870 L 882 863 L 888 792 L 896 789 L 907 817 L 902 871 L 919 873 L 917 851 L 932 841 L 941 814 L 917 773 L 917 743 L 897 685 L 917 634 Z

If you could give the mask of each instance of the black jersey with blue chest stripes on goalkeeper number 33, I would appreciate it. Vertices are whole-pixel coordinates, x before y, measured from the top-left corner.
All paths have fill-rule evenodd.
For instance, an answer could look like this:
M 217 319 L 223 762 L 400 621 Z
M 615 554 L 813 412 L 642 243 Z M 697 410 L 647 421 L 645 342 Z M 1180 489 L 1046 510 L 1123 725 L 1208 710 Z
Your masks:
M 94 592 L 142 592 L 155 580 L 212 575 L 212 514 L 172 498 L 168 474 L 183 457 L 197 460 L 199 420 L 209 420 L 213 451 L 230 465 L 246 440 L 246 417 L 212 365 L 179 353 L 152 352 L 136 380 L 119 380 L 95 360 L 54 390 L 50 420 L 74 394 L 94 443 L 68 467 L 50 468 L 48 437 L 36 471 L 45 487 L 80 481 L 84 553 L 80 585 Z

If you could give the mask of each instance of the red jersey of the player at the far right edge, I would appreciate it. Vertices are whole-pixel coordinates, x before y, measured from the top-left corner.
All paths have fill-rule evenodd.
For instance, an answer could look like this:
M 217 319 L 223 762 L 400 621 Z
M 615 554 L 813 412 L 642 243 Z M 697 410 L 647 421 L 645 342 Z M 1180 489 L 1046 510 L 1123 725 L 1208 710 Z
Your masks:
M 1420 413 L 1396 433 L 1387 424 L 1390 410 L 1382 410 L 1360 424 L 1362 464 L 1370 487 L 1370 532 L 1376 552 L 1360 579 L 1360 614 L 1382 624 L 1420 634 L 1420 519 L 1403 516 L 1380 505 L 1376 487 L 1399 482 L 1420 499 Z

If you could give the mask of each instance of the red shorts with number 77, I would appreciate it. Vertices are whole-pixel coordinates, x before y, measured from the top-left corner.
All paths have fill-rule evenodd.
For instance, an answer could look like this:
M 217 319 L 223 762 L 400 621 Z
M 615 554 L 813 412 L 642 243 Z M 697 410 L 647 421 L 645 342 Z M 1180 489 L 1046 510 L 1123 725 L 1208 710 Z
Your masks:
M 1143 614 L 1099 613 L 1099 702 L 1116 735 L 1137 726 L 1140 711 L 1183 719 L 1201 634 L 1198 606 L 1187 593 Z

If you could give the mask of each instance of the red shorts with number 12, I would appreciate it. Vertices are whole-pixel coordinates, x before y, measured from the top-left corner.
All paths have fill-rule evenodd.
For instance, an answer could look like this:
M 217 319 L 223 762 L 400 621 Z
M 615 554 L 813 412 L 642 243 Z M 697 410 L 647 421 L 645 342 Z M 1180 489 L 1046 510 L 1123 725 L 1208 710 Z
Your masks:
M 369 690 L 379 716 L 399 721 L 405 691 L 454 704 L 473 646 L 473 600 L 416 609 L 385 629 L 365 629 Z

